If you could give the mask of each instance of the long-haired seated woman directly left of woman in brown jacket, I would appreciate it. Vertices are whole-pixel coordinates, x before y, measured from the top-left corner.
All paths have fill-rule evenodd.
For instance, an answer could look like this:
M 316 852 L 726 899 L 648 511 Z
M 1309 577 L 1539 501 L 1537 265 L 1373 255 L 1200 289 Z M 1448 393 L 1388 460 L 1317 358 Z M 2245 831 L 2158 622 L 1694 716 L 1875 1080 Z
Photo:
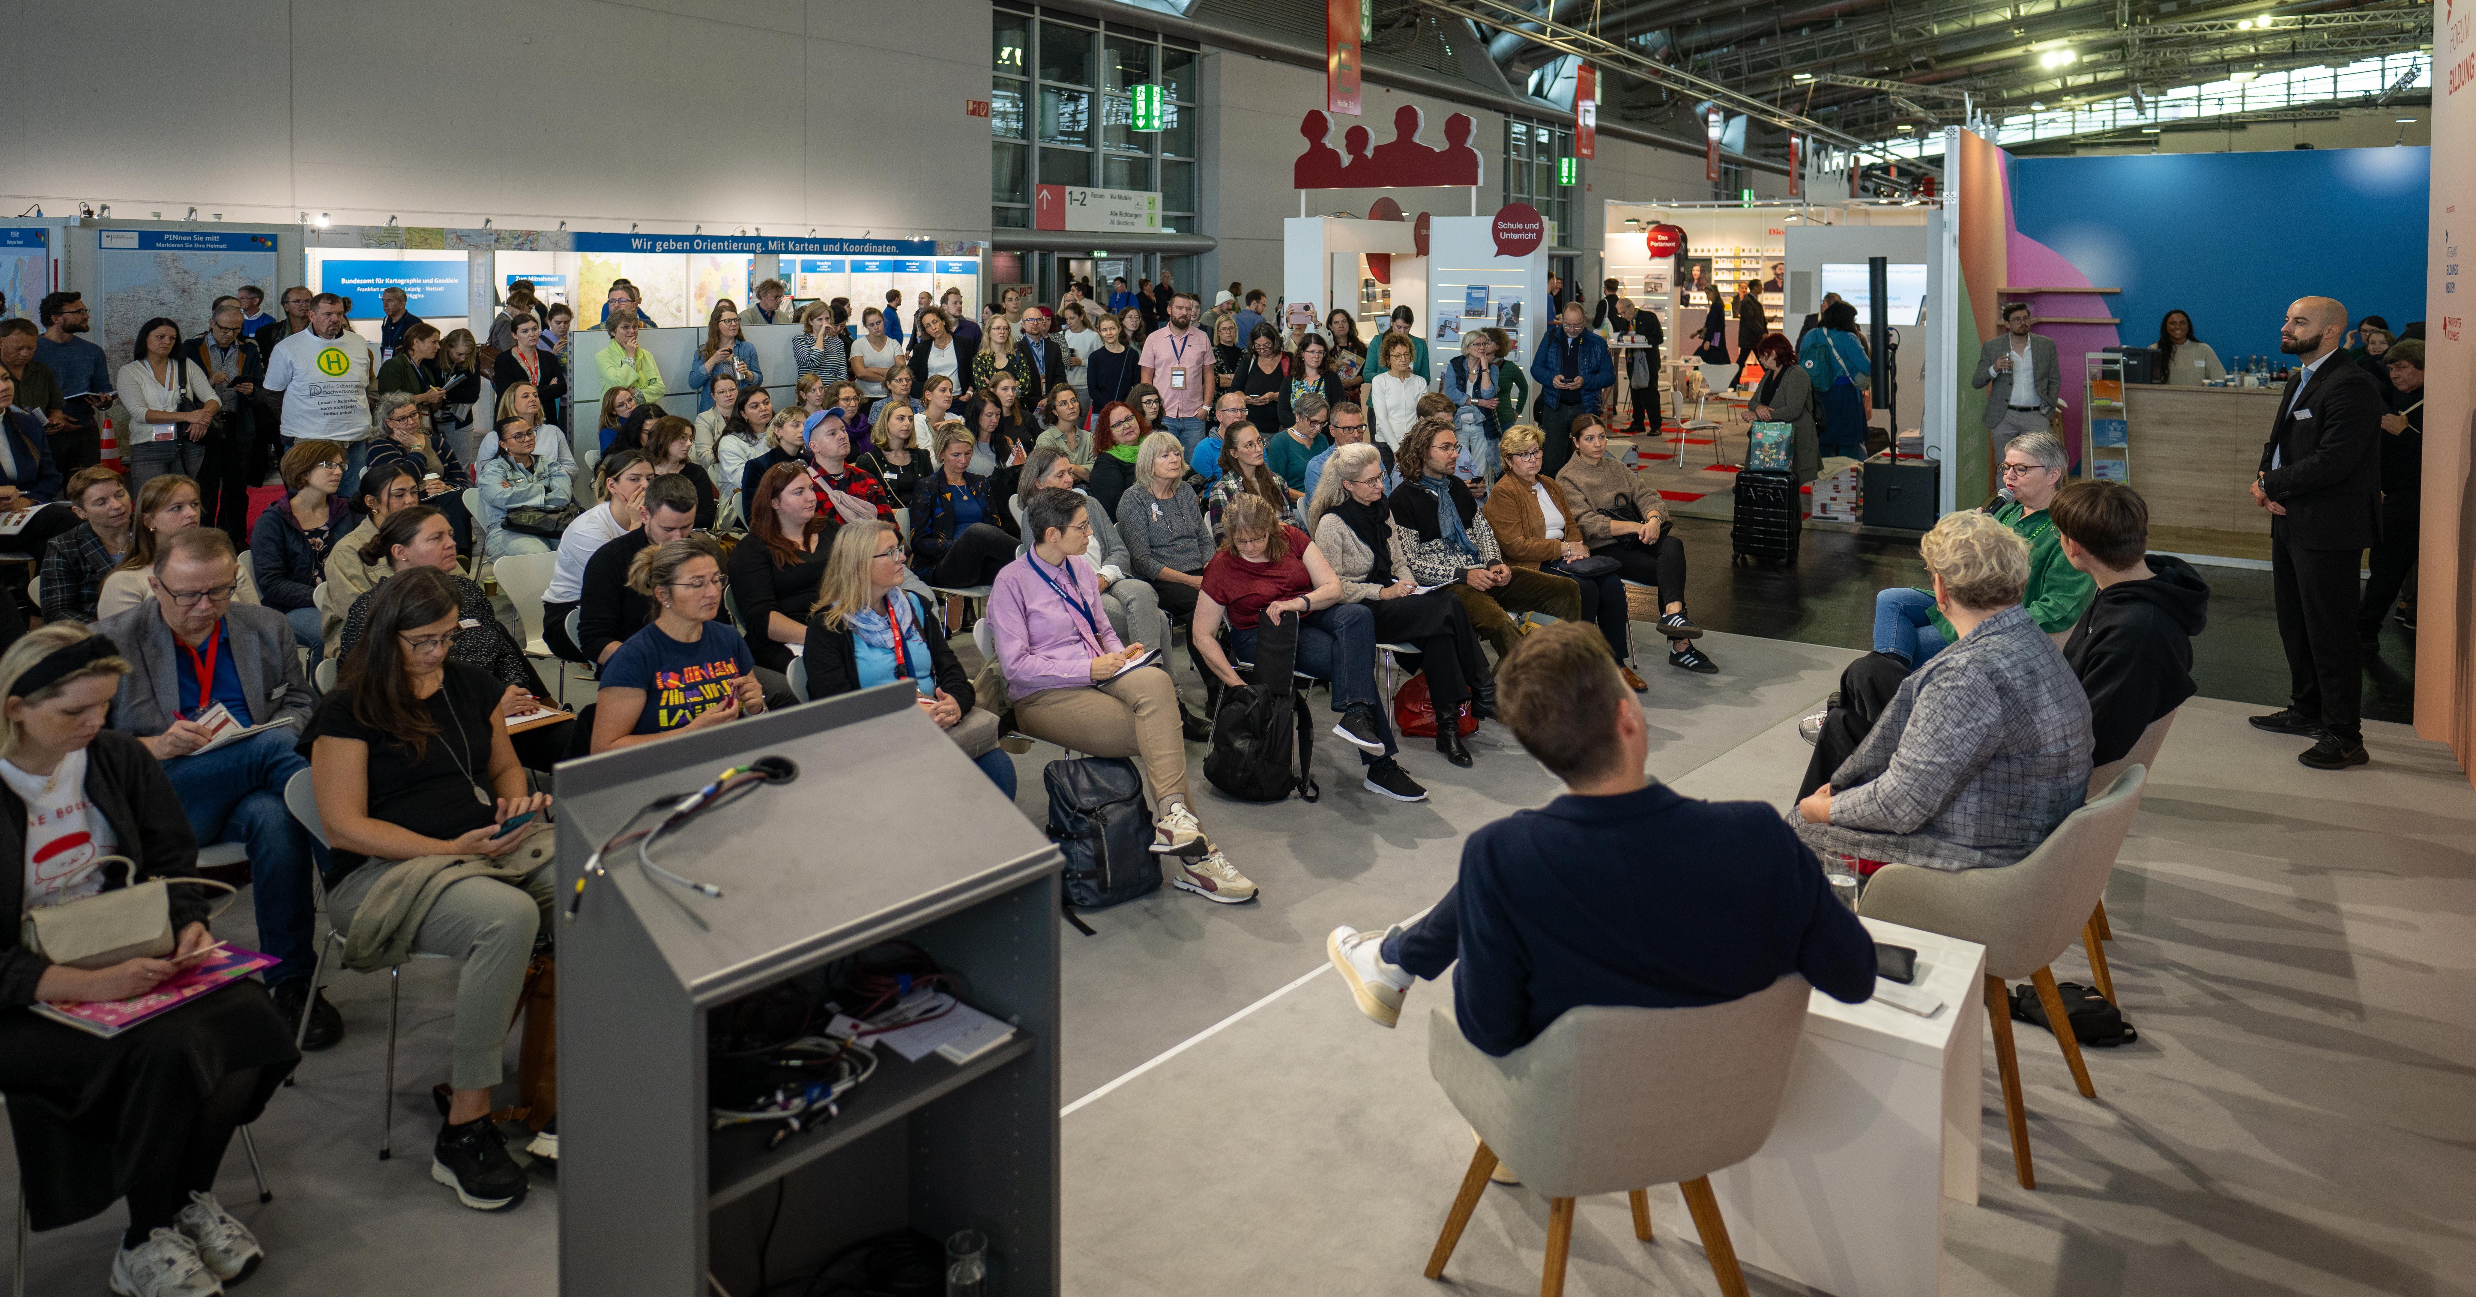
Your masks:
M 1453 436 L 1451 421 L 1421 418 L 1414 423 L 1401 438 L 1399 458 L 1406 465 L 1404 473 L 1411 468 L 1421 473 L 1404 478 L 1392 493 L 1394 520 L 1414 537 L 1411 579 L 1424 587 L 1451 587 L 1461 609 L 1471 614 L 1471 629 L 1496 646 L 1498 661 L 1513 651 L 1515 614 L 1540 611 L 1557 621 L 1582 616 L 1577 582 L 1505 564 L 1496 547 L 1496 530 L 1478 512 L 1471 488 L 1453 475 L 1461 441 Z

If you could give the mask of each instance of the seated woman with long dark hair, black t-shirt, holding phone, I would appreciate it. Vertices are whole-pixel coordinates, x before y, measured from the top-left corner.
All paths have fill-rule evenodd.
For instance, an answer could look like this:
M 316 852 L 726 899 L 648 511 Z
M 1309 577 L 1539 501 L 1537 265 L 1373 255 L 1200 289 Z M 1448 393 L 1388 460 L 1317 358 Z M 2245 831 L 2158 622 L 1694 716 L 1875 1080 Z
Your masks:
M 463 960 L 431 1178 L 473 1210 L 500 1210 L 530 1181 L 490 1121 L 490 1089 L 557 889 L 557 834 L 545 819 L 503 829 L 547 812 L 550 795 L 530 792 L 515 760 L 500 681 L 448 661 L 463 616 L 446 574 L 411 567 L 389 579 L 302 750 L 334 851 L 327 913 L 352 933 L 344 965 Z M 441 874 L 453 881 L 438 886 Z

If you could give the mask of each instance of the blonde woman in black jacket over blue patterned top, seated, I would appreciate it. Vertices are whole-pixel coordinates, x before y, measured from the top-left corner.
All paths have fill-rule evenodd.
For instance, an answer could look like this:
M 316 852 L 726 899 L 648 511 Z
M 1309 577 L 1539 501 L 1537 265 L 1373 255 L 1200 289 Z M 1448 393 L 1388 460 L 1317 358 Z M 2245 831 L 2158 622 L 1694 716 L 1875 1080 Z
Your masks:
M 904 589 L 904 545 L 891 522 L 857 522 L 834 535 L 800 653 L 807 696 L 817 700 L 911 681 L 928 720 L 1013 799 L 1015 760 L 998 748 L 998 715 L 973 705 L 978 693 L 963 663 L 928 621 L 928 601 Z

